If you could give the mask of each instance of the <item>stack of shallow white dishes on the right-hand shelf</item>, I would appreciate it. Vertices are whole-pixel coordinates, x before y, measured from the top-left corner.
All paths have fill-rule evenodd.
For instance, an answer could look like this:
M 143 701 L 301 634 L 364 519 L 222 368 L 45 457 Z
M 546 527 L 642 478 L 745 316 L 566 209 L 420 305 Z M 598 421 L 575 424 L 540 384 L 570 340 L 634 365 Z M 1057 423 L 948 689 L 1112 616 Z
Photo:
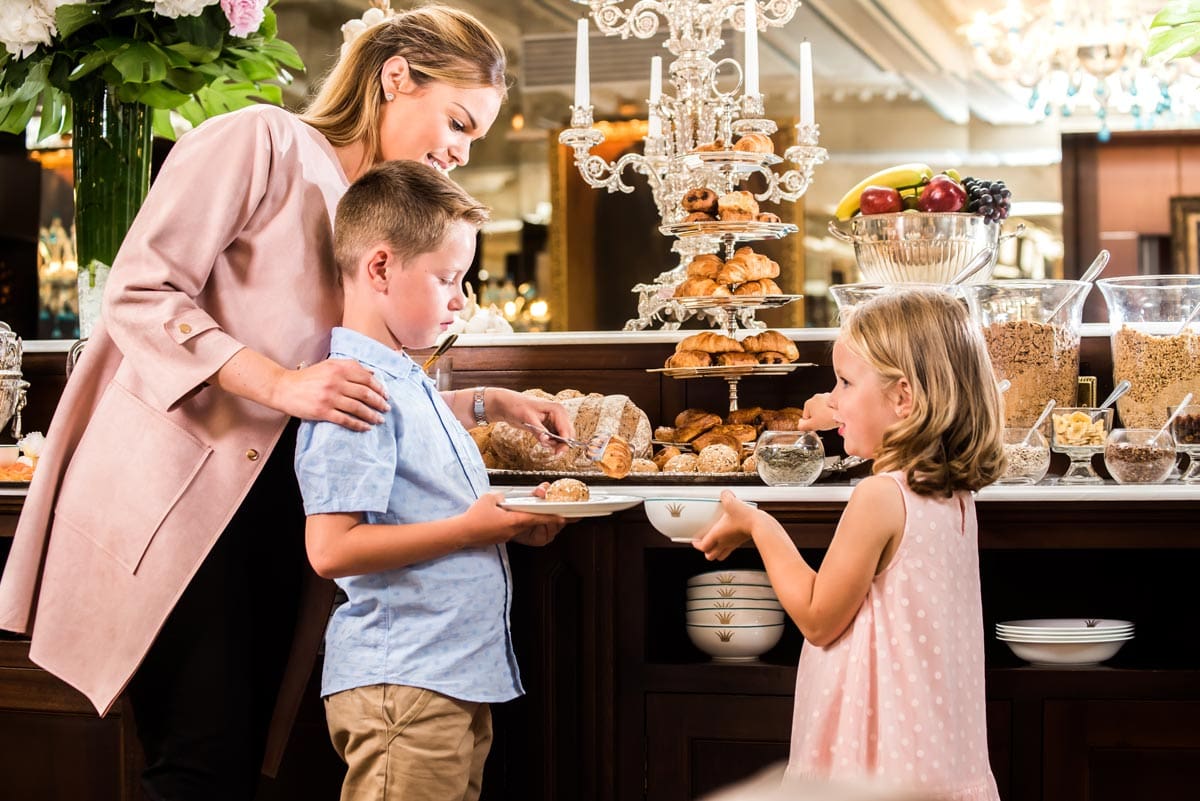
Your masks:
M 996 624 L 996 639 L 1033 664 L 1097 664 L 1133 639 L 1128 620 L 1052 618 Z

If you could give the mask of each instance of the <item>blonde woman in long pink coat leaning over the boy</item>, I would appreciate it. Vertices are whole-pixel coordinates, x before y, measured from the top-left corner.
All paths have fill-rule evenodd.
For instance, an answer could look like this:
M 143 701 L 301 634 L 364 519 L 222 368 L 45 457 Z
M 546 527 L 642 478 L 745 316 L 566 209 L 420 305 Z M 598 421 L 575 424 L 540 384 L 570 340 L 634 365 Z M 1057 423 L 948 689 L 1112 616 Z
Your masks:
M 385 159 L 449 169 L 505 96 L 504 52 L 445 6 L 366 30 L 305 115 L 256 106 L 173 149 L 68 381 L 2 582 L 0 627 L 107 713 L 127 689 L 151 799 L 252 799 L 277 765 L 332 584 L 304 550 L 296 420 L 366 430 L 388 399 L 325 360 L 331 221 Z M 571 433 L 557 404 L 446 393 Z

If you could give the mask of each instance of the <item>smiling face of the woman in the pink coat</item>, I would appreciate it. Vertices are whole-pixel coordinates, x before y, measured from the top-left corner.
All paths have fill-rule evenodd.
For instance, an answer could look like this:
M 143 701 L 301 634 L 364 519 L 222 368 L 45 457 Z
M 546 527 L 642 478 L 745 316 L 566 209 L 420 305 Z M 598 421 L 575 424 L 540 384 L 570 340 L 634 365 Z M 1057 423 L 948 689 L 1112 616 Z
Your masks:
M 500 110 L 500 91 L 493 86 L 462 89 L 431 80 L 416 85 L 404 59 L 384 65 L 385 92 L 379 145 L 384 161 L 414 161 L 443 173 L 466 164 L 470 145 L 484 137 Z

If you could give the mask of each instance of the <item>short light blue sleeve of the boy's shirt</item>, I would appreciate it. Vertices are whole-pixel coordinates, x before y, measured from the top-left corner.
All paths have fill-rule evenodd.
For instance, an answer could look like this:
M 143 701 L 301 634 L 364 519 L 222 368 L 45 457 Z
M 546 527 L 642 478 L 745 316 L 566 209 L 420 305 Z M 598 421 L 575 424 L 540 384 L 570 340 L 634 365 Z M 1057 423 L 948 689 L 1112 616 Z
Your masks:
M 396 481 L 396 416 L 365 432 L 300 423 L 295 471 L 305 514 L 388 511 Z

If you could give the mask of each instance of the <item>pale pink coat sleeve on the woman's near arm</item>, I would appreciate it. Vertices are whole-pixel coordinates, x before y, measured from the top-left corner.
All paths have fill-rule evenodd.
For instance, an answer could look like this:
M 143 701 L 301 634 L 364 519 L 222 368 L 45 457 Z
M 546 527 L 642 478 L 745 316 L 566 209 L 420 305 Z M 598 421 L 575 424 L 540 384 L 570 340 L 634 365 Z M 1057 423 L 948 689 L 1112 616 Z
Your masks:
M 116 255 L 104 325 L 163 410 L 244 345 L 197 302 L 221 253 L 268 192 L 274 146 L 263 113 L 232 113 L 185 134 Z

